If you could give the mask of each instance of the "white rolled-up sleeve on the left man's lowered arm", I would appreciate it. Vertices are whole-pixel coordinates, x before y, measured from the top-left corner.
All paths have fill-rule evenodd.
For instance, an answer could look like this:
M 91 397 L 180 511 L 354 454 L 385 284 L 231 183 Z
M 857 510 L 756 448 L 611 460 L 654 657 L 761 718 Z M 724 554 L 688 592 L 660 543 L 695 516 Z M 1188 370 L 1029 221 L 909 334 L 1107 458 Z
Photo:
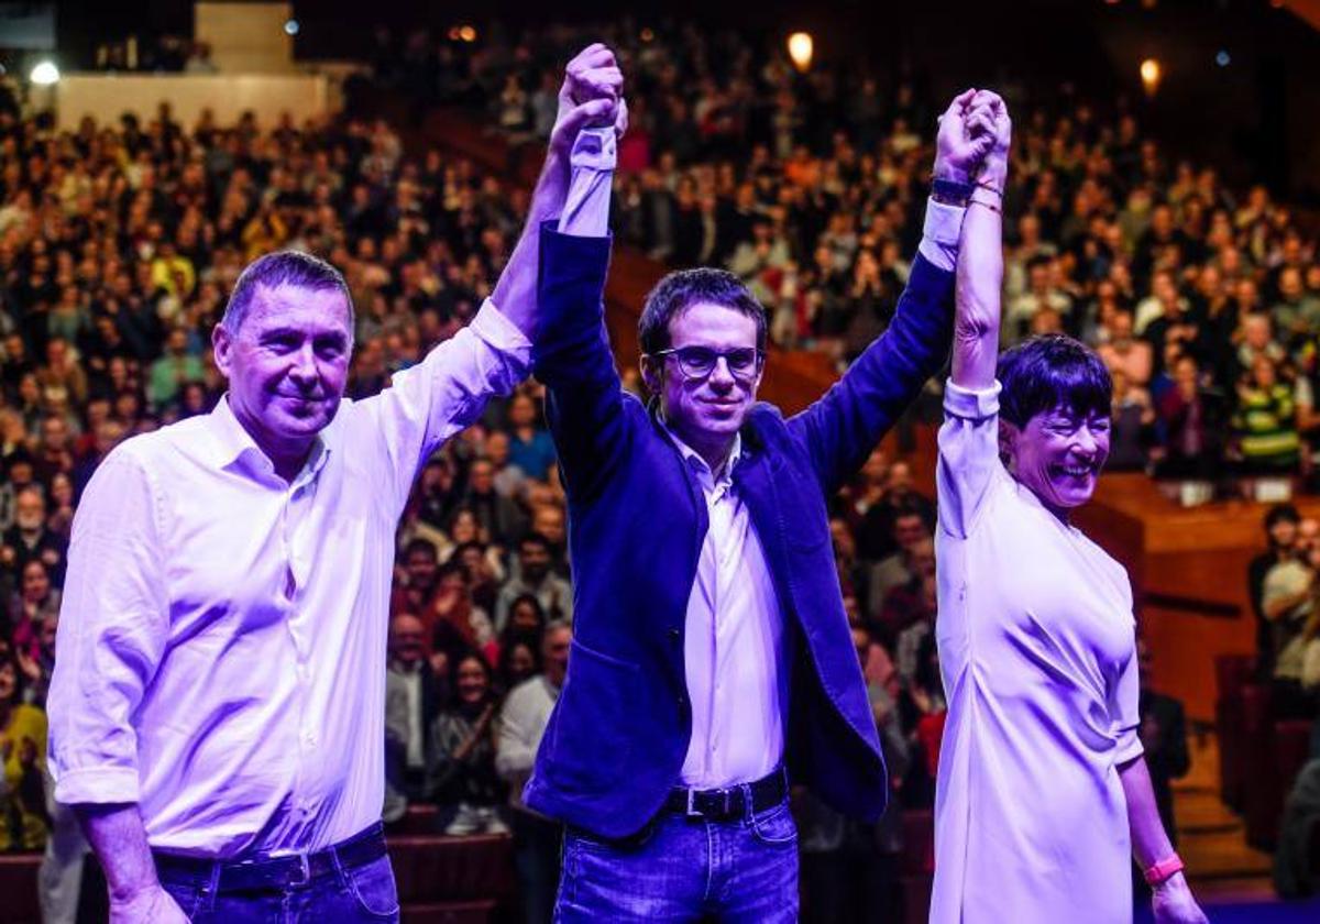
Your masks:
M 156 498 L 147 469 L 120 447 L 74 517 L 46 705 L 59 803 L 139 801 L 133 713 L 169 635 Z

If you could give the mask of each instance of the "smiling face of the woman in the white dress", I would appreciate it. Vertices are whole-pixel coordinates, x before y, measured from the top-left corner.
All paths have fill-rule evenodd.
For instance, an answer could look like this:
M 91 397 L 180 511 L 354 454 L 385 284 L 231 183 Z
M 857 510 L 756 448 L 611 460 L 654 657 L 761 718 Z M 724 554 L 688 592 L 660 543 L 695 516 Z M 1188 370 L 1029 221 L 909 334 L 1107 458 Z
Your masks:
M 1109 457 L 1109 416 L 1082 417 L 1068 408 L 1039 413 L 1023 428 L 1007 430 L 1010 470 L 1055 513 L 1090 500 Z

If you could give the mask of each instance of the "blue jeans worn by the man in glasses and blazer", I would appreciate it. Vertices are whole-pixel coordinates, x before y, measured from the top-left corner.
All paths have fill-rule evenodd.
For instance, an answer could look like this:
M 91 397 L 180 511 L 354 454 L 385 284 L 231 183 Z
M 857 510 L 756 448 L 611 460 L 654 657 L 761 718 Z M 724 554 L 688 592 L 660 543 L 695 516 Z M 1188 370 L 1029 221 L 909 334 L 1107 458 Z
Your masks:
M 797 826 L 788 801 L 735 821 L 661 812 L 638 834 L 564 836 L 554 920 L 797 920 Z

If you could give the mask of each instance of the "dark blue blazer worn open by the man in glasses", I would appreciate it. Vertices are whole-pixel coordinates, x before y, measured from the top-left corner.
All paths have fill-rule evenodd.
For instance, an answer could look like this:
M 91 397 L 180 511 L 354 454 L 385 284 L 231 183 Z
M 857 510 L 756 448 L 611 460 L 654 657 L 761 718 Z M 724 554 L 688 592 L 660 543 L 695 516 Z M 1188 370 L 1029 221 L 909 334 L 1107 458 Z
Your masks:
M 678 450 L 620 388 L 602 302 L 609 263 L 609 239 L 543 227 L 533 363 L 568 491 L 574 631 L 524 800 L 626 837 L 680 781 L 692 737 L 684 631 L 709 523 Z M 953 273 L 917 256 L 894 322 L 825 396 L 787 420 L 752 407 L 733 473 L 796 636 L 789 774 L 865 818 L 884 810 L 888 784 L 825 502 L 942 367 L 952 335 Z

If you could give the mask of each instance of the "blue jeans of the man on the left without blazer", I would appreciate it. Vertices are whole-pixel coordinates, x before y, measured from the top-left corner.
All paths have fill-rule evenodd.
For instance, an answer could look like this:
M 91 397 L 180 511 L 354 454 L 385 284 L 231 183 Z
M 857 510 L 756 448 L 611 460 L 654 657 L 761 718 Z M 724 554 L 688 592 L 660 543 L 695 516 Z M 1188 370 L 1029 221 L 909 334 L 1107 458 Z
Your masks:
M 399 892 L 389 855 L 280 891 L 219 892 L 209 882 L 172 871 L 161 886 L 198 924 L 321 924 L 397 921 Z

